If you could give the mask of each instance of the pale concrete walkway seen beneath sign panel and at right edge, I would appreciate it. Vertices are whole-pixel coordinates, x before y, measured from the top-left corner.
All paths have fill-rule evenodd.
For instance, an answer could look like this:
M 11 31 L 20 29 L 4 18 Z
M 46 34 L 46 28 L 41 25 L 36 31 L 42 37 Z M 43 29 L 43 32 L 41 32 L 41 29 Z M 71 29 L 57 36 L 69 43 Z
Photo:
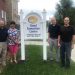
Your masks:
M 26 45 L 43 45 L 42 41 L 25 41 Z M 47 43 L 47 45 L 49 45 Z M 71 59 L 75 62 L 75 45 L 74 45 L 74 49 L 72 49 L 71 52 Z

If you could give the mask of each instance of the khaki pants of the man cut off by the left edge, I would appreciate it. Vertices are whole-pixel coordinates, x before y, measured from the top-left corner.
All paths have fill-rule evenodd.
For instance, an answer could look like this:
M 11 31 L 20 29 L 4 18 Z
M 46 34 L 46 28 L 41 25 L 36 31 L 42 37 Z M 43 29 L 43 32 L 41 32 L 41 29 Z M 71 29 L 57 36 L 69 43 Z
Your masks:
M 6 53 L 7 53 L 7 43 L 0 42 L 0 62 L 2 65 L 6 64 Z

